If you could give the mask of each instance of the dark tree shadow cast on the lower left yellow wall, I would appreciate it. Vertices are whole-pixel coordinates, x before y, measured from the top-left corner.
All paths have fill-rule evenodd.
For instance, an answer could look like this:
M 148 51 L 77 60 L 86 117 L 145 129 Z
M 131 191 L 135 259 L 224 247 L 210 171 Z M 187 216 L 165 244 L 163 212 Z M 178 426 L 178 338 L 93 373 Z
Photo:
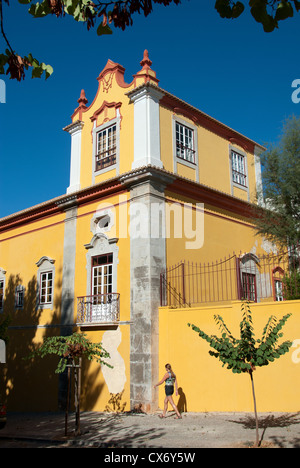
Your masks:
M 60 272 L 61 273 L 61 272 Z M 61 291 L 61 274 L 56 275 L 55 289 Z M 22 307 L 16 304 L 16 291 L 22 288 Z M 63 298 L 58 294 L 54 300 L 51 317 L 47 323 L 42 317 L 45 313 L 38 305 L 38 283 L 33 276 L 24 287 L 19 274 L 10 275 L 5 289 L 4 317 L 10 316 L 8 329 L 9 341 L 6 346 L 6 364 L 0 366 L 0 396 L 6 403 L 8 411 L 58 411 L 64 409 L 59 405 L 59 375 L 55 373 L 58 357 L 46 356 L 43 359 L 24 359 L 35 351 L 41 339 L 60 336 L 61 304 Z M 72 305 L 73 307 L 73 305 Z M 40 327 L 40 328 L 39 328 Z M 69 327 L 71 334 L 75 326 Z M 90 362 L 83 360 L 82 385 L 85 387 L 84 401 L 89 407 L 99 398 L 104 384 L 96 378 L 101 367 L 91 375 Z M 87 377 L 88 375 L 88 377 Z M 98 383 L 96 383 L 98 382 Z M 74 408 L 73 403 L 70 409 Z M 82 407 L 84 409 L 84 407 Z

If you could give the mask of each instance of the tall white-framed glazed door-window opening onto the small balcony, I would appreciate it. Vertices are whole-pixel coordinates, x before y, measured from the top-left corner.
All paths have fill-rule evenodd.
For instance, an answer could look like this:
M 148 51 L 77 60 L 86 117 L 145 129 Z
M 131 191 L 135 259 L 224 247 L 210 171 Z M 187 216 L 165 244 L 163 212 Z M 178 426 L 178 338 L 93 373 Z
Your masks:
M 92 258 L 92 295 L 113 292 L 113 255 L 106 254 Z

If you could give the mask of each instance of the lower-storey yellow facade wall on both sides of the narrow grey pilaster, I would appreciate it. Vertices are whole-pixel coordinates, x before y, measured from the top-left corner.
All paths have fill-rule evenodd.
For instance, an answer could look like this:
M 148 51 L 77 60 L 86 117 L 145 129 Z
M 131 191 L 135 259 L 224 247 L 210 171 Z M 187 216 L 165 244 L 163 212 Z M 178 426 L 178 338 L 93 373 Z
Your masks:
M 130 320 L 130 239 L 120 230 L 119 220 L 126 217 L 128 221 L 128 195 L 122 193 L 107 197 L 97 202 L 82 205 L 77 213 L 76 257 L 75 257 L 75 294 L 74 294 L 74 324 L 77 322 L 77 297 L 87 295 L 86 244 L 89 244 L 93 233 L 91 232 L 91 219 L 97 210 L 104 206 L 111 206 L 115 210 L 116 229 L 107 232 L 107 236 L 120 237 L 117 245 L 117 291 L 120 294 L 120 320 Z M 120 205 L 121 202 L 121 205 Z M 120 214 L 120 210 L 123 210 Z M 30 223 L 27 226 L 10 230 L 1 234 L 0 267 L 6 271 L 4 314 L 9 313 L 12 318 L 10 324 L 10 341 L 7 345 L 7 364 L 1 366 L 3 375 L 0 386 L 0 395 L 6 391 L 7 404 L 14 411 L 56 411 L 58 396 L 58 376 L 54 373 L 57 358 L 34 359 L 24 361 L 23 358 L 48 336 L 61 334 L 61 293 L 63 271 L 63 249 L 65 213 L 58 214 Z M 125 224 L 126 224 L 125 223 Z M 124 228 L 124 226 L 123 226 Z M 125 229 L 125 228 L 124 228 Z M 36 309 L 37 300 L 37 271 L 36 262 L 48 256 L 55 260 L 55 286 L 54 305 L 51 309 Z M 16 310 L 14 296 L 16 281 L 25 286 L 25 306 Z M 0 316 L 1 319 L 1 316 Z M 109 371 L 107 380 L 124 381 L 124 390 L 118 395 L 111 395 L 103 375 L 102 367 L 96 363 L 85 360 L 82 374 L 82 410 L 101 411 L 119 408 L 130 409 L 130 325 L 122 323 L 120 330 L 120 344 L 114 349 L 110 362 L 114 369 Z M 82 331 L 92 342 L 110 339 L 116 334 L 116 327 L 112 330 L 105 327 L 79 328 L 74 326 L 73 331 Z M 120 369 L 122 361 L 125 369 Z M 107 371 L 107 368 L 105 369 Z M 125 376 L 124 376 L 125 374 Z M 4 390 L 4 383 L 6 389 Z M 112 400 L 111 400 L 112 399 Z M 110 401 L 111 400 L 111 401 Z

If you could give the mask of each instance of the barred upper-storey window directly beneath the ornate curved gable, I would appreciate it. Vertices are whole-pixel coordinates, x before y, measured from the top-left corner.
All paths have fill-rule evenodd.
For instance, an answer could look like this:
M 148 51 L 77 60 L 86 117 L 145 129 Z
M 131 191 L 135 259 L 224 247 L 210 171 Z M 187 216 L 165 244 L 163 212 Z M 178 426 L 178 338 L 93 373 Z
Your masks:
M 100 171 L 116 163 L 117 156 L 117 126 L 105 128 L 97 133 L 96 171 Z

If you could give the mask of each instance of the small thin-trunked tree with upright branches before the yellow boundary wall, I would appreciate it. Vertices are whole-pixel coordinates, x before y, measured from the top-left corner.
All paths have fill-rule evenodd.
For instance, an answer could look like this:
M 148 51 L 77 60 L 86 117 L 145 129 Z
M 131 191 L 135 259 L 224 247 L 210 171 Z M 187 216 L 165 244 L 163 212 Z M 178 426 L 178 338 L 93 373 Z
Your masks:
M 292 346 L 290 341 L 278 344 L 279 338 L 283 336 L 281 329 L 291 314 L 285 315 L 277 321 L 273 315 L 267 321 L 263 330 L 262 338 L 255 340 L 253 322 L 250 306 L 242 304 L 242 321 L 240 323 L 240 338 L 234 338 L 220 315 L 214 315 L 216 324 L 222 331 L 222 336 L 207 335 L 200 328 L 188 324 L 200 338 L 206 340 L 214 351 L 209 354 L 223 363 L 223 367 L 235 374 L 248 373 L 251 379 L 254 413 L 256 420 L 256 446 L 259 446 L 258 417 L 256 410 L 256 398 L 254 390 L 253 372 L 256 367 L 267 366 L 270 362 L 280 358 L 289 351 Z

